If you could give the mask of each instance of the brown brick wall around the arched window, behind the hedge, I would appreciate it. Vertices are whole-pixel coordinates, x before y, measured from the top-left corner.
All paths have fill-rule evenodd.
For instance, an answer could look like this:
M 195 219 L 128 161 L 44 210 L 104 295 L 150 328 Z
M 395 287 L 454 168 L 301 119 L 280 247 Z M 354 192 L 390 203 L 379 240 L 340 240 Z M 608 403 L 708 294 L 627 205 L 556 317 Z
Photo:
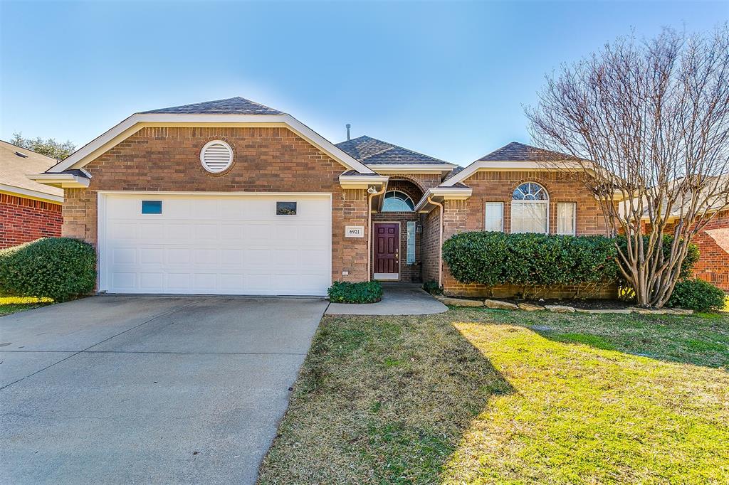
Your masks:
M 443 241 L 453 234 L 469 231 L 483 231 L 486 202 L 504 202 L 504 232 L 511 231 L 511 200 L 514 189 L 523 182 L 537 182 L 547 190 L 550 197 L 549 230 L 557 232 L 557 203 L 576 202 L 577 235 L 609 234 L 602 216 L 599 202 L 588 192 L 577 174 L 564 172 L 477 172 L 464 181 L 473 189 L 467 200 L 446 200 L 443 213 Z M 437 209 L 436 209 L 437 210 Z M 443 268 L 443 288 L 445 293 L 464 296 L 507 297 L 523 291 L 523 288 L 502 286 L 487 288 L 484 285 L 459 283 Z M 551 288 L 544 293 L 548 298 L 567 298 L 572 296 L 592 296 L 612 298 L 617 294 L 614 286 L 608 288 L 567 287 Z M 589 294 L 588 294 L 589 293 Z

